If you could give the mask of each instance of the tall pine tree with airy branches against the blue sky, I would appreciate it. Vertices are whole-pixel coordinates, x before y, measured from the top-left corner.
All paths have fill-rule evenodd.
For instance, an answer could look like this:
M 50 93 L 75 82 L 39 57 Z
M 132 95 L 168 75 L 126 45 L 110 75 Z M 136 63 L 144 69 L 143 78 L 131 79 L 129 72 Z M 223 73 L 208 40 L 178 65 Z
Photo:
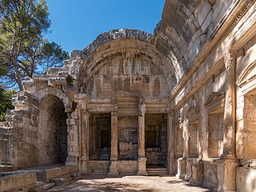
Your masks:
M 67 52 L 43 38 L 49 27 L 46 0 L 0 0 L 0 83 L 22 90 L 26 76 L 62 65 Z

